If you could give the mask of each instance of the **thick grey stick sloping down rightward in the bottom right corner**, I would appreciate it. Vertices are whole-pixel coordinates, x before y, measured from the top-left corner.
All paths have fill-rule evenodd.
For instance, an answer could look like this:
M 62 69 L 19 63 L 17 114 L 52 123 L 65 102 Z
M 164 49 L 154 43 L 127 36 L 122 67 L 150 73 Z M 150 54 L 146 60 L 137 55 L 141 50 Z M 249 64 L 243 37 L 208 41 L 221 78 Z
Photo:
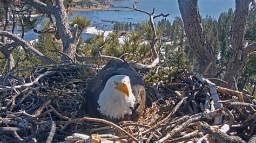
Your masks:
M 211 128 L 211 126 L 204 121 L 198 121 L 197 125 L 201 127 L 199 131 L 210 134 L 214 139 L 218 140 L 219 142 L 245 142 L 237 136 L 230 136 L 224 132 Z

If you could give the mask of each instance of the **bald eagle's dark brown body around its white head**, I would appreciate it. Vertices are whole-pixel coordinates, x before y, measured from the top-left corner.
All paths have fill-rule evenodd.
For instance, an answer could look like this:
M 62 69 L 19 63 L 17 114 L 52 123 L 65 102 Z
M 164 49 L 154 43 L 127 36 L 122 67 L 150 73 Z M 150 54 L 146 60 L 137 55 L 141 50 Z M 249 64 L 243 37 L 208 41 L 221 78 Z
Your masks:
M 134 105 L 134 109 L 132 115 L 125 115 L 124 118 L 121 119 L 110 119 L 97 110 L 98 98 L 100 93 L 105 87 L 105 84 L 109 78 L 114 75 L 127 75 L 130 78 L 131 88 L 133 95 L 136 98 L 136 103 Z M 86 111 L 90 117 L 95 118 L 103 118 L 106 120 L 110 120 L 114 123 L 123 120 L 133 120 L 137 121 L 140 116 L 142 116 L 143 111 L 145 109 L 145 88 L 142 77 L 139 76 L 137 71 L 132 68 L 127 62 L 122 61 L 110 61 L 107 65 L 99 71 L 89 82 L 86 88 Z

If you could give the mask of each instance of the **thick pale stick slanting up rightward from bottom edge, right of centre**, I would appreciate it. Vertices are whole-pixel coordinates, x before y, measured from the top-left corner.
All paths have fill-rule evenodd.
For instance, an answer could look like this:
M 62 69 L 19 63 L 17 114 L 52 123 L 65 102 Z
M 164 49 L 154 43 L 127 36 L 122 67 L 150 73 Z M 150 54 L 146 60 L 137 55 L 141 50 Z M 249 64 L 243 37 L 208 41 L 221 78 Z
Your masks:
M 185 128 L 186 128 L 189 124 L 191 124 L 191 123 L 193 123 L 193 122 L 196 122 L 196 121 L 200 120 L 201 118 L 202 118 L 202 117 L 195 117 L 195 118 L 188 119 L 188 120 L 185 121 L 183 124 L 174 127 L 173 130 L 172 130 L 170 133 L 166 134 L 165 137 L 159 139 L 157 142 L 163 142 L 163 141 L 167 140 L 168 138 L 173 137 L 174 134 L 185 130 Z M 170 128 L 169 128 L 169 129 L 170 129 Z M 166 130 L 168 130 L 168 129 L 166 129 Z

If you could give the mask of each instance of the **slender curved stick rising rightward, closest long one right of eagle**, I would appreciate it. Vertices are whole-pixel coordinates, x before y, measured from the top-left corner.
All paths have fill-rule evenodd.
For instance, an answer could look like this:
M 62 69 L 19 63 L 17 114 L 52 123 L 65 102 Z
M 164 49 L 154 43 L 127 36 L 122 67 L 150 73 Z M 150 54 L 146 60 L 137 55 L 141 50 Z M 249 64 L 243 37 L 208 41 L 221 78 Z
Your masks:
M 147 129 L 146 131 L 142 132 L 142 134 L 148 133 L 152 130 L 154 130 L 159 125 L 163 124 L 167 119 L 169 119 L 180 107 L 180 105 L 187 99 L 187 97 L 184 97 L 181 99 L 181 101 L 175 106 L 175 108 L 172 110 L 172 112 L 167 115 L 163 120 L 159 121 L 156 125 L 152 126 L 151 128 Z

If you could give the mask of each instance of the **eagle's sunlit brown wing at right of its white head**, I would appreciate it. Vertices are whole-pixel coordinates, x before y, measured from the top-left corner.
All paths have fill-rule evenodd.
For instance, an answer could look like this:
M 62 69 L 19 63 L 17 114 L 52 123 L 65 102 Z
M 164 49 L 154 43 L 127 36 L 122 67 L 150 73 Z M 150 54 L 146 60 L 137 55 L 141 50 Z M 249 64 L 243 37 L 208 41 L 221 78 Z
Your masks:
M 143 115 L 146 102 L 146 92 L 145 88 L 142 85 L 133 85 L 132 86 L 133 94 L 136 98 L 134 110 L 131 115 L 131 120 L 137 121 L 140 116 Z

